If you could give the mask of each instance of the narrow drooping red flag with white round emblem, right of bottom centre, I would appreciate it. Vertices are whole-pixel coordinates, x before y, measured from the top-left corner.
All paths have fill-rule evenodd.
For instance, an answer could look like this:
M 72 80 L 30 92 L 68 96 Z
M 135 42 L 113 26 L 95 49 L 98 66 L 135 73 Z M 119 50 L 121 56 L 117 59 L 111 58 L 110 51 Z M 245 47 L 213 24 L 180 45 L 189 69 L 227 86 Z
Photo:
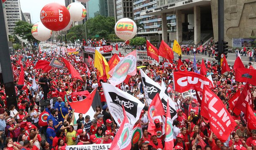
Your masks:
M 165 147 L 172 150 L 174 147 L 173 132 L 172 132 L 172 118 L 170 113 L 169 99 L 167 99 L 167 111 L 165 118 Z

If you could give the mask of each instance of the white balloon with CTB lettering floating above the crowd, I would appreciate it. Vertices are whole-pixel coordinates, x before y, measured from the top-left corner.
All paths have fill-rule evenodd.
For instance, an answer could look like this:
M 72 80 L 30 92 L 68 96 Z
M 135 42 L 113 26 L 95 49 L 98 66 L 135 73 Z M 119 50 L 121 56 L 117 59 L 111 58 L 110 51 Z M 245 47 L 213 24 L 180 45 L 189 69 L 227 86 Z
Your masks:
M 115 23 L 115 34 L 123 40 L 132 39 L 137 33 L 136 23 L 129 18 L 122 18 Z

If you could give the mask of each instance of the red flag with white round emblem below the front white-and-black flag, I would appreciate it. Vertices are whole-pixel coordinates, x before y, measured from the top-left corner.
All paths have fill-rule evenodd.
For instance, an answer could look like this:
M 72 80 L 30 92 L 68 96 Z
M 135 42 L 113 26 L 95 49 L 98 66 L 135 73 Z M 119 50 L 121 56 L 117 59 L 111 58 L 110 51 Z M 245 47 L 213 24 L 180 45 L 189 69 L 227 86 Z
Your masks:
M 122 106 L 123 107 L 123 106 Z M 130 150 L 131 149 L 131 124 L 126 116 L 125 109 L 123 107 L 123 115 L 125 118 L 118 129 L 117 134 L 110 146 L 109 150 Z

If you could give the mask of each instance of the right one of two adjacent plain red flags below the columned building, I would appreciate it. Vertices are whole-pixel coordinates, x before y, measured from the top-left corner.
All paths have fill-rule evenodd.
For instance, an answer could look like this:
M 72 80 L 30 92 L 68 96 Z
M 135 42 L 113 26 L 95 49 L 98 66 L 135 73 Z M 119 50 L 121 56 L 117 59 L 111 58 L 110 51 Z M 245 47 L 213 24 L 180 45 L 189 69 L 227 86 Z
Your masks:
M 172 59 L 174 58 L 172 49 L 165 43 L 165 41 L 161 41 L 160 47 L 158 49 L 159 56 L 162 56 L 169 60 L 172 63 Z

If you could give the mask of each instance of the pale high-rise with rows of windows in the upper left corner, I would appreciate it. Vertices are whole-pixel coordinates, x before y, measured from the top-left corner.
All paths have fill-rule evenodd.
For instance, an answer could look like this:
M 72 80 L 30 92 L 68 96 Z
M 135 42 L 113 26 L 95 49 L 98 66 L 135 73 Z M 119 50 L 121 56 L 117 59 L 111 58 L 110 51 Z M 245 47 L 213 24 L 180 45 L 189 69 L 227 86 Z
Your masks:
M 16 22 L 22 20 L 20 0 L 6 0 L 4 5 L 4 13 L 7 21 L 6 25 L 8 26 L 8 34 L 13 34 L 13 29 L 16 26 Z

